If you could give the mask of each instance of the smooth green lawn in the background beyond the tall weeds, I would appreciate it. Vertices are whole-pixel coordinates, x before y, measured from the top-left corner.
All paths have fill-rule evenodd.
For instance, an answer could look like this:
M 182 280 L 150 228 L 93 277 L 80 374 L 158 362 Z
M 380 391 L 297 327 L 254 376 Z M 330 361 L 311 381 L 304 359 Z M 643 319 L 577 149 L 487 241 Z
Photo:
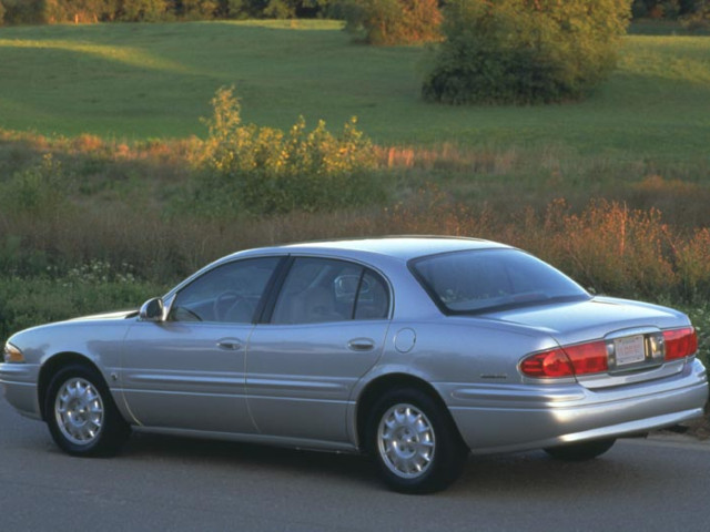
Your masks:
M 243 116 L 338 129 L 382 144 L 569 146 L 633 160 L 702 160 L 710 139 L 710 38 L 631 35 L 619 70 L 584 103 L 449 108 L 418 95 L 426 51 L 351 42 L 333 21 L 0 29 L 0 127 L 118 139 L 203 135 L 235 84 Z

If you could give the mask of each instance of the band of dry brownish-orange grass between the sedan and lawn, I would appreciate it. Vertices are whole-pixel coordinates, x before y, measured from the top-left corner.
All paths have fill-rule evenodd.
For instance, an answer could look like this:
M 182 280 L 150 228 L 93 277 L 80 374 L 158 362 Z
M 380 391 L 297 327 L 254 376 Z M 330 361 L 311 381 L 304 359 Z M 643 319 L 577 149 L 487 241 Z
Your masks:
M 191 160 L 197 145 L 196 140 L 128 143 L 0 131 L 3 197 L 17 192 L 18 175 L 34 175 L 47 165 L 48 154 L 47 183 L 59 191 L 41 196 L 49 204 L 39 209 L 31 202 L 24 209 L 17 202 L 2 205 L 6 272 L 34 275 L 48 266 L 67 269 L 101 259 L 129 264 L 141 278 L 176 279 L 246 247 L 439 234 L 529 249 L 597 291 L 686 301 L 710 293 L 703 161 L 663 167 L 582 157 L 555 146 L 534 152 L 381 146 L 376 172 L 395 183 L 384 207 L 214 217 L 185 207 L 195 186 Z M 30 185 L 41 188 L 43 182 L 30 180 Z

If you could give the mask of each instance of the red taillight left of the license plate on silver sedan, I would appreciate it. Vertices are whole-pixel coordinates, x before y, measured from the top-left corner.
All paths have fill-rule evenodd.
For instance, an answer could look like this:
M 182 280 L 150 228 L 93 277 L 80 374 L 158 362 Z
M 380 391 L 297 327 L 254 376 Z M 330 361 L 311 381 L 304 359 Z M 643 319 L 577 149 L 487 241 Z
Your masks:
M 604 341 L 578 344 L 530 355 L 520 364 L 528 377 L 559 378 L 599 374 L 609 369 Z

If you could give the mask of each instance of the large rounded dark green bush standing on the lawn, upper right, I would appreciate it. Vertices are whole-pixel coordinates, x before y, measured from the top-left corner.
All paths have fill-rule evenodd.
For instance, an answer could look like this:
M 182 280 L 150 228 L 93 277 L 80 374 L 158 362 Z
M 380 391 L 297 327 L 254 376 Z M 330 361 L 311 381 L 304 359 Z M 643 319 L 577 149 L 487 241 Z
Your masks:
M 621 0 L 452 0 L 423 95 L 450 104 L 581 99 L 615 68 L 629 8 Z

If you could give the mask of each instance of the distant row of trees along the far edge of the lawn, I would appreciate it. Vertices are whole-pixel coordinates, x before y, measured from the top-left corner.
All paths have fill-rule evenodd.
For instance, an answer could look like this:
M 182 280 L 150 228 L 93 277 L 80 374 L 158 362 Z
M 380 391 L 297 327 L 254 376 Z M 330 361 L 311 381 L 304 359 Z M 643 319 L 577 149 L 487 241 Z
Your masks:
M 379 4 L 395 12 L 393 3 L 408 11 L 430 12 L 430 4 L 447 0 L 0 0 L 0 24 L 61 22 L 166 21 L 250 18 L 347 18 L 358 4 Z M 425 4 L 424 7 L 419 4 Z M 710 10 L 710 0 L 635 0 L 635 18 L 679 19 Z

